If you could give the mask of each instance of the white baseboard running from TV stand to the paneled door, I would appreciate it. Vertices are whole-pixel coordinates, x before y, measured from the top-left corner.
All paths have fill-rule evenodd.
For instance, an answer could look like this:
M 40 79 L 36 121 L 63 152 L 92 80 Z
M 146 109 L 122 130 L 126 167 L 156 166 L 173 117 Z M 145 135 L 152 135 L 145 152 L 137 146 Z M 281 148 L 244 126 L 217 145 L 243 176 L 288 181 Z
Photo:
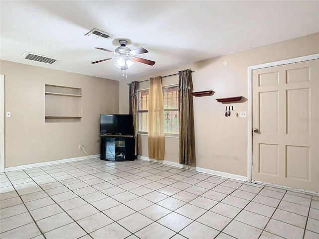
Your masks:
M 140 156 L 140 155 L 138 155 L 138 158 L 142 159 L 142 160 L 146 160 L 146 161 L 152 161 L 152 162 L 166 164 L 166 165 L 177 167 L 177 168 L 185 168 L 185 169 L 195 170 L 195 171 L 200 172 L 200 173 L 207 173 L 207 174 L 211 174 L 211 175 L 236 179 L 236 180 L 245 181 L 245 182 L 247 181 L 246 176 L 241 176 L 241 175 L 237 175 L 237 174 L 225 173 L 225 172 L 215 171 L 215 170 L 211 170 L 211 169 L 207 169 L 207 168 L 187 166 L 184 164 L 179 164 L 179 163 L 171 162 L 171 161 L 167 161 L 167 160 L 162 161 L 162 160 L 149 159 L 146 156 Z

